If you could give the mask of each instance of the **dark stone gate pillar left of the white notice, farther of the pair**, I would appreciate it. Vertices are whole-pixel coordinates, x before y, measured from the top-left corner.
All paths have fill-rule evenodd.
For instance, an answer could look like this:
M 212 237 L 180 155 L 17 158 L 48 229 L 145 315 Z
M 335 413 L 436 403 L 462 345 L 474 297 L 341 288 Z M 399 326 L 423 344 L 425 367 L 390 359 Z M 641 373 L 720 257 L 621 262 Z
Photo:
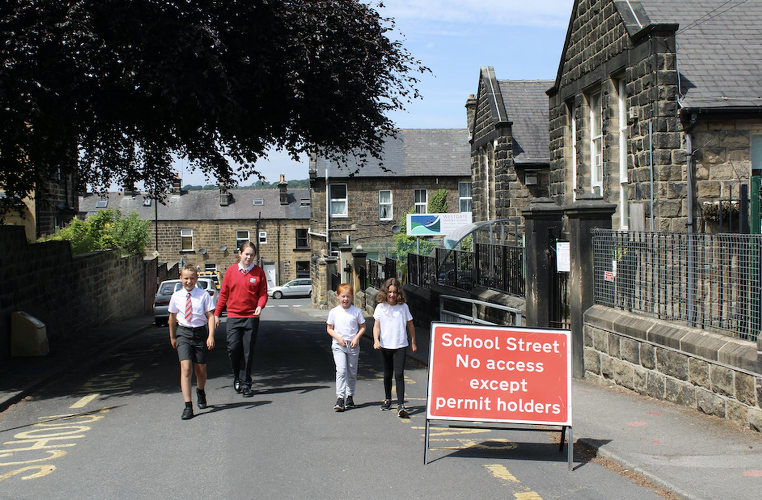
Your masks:
M 537 198 L 521 210 L 527 239 L 527 326 L 550 326 L 552 291 L 548 254 L 551 239 L 561 234 L 563 210 L 550 198 Z

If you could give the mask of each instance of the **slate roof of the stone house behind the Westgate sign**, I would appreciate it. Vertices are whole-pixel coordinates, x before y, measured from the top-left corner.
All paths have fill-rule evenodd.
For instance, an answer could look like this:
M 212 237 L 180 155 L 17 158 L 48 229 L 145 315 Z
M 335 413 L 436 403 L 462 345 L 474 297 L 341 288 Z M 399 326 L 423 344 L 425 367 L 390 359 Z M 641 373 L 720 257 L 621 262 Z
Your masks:
M 547 98 L 545 107 L 547 108 Z M 547 126 L 546 126 L 547 128 Z M 357 158 L 357 157 L 355 157 Z M 466 129 L 400 129 L 396 139 L 387 139 L 382 155 L 384 168 L 370 158 L 354 177 L 470 177 L 471 145 Z M 351 159 L 349 168 L 339 168 L 319 156 L 315 161 L 318 178 L 346 178 L 357 170 L 359 161 Z

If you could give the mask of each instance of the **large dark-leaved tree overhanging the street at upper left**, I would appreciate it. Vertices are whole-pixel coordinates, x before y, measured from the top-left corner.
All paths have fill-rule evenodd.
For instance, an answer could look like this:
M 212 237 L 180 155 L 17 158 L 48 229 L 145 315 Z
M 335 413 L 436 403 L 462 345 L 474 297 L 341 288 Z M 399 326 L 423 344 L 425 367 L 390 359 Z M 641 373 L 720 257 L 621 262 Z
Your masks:
M 387 112 L 420 98 L 428 71 L 360 0 L 0 0 L 0 12 L 0 188 L 14 198 L 58 171 L 163 191 L 173 155 L 231 186 L 271 147 L 379 157 Z

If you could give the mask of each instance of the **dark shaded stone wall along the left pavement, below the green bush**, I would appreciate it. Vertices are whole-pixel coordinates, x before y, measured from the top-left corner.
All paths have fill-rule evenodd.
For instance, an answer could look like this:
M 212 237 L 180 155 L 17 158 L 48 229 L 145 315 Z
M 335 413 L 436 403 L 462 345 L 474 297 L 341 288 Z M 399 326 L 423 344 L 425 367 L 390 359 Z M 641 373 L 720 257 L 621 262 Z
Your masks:
M 0 226 L 0 360 L 9 355 L 11 312 L 45 323 L 51 350 L 82 330 L 145 314 L 152 262 L 114 251 L 72 257 L 69 242 L 28 244 L 24 228 Z

